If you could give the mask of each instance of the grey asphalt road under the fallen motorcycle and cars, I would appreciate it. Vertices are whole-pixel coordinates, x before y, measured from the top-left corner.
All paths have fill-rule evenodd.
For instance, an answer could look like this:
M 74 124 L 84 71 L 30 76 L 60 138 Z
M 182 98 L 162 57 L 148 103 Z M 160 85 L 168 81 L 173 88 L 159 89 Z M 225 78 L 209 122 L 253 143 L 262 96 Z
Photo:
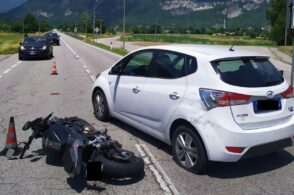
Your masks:
M 131 181 L 72 181 L 58 159 L 44 156 L 41 140 L 36 140 L 23 160 L 0 157 L 0 194 L 294 194 L 293 147 L 239 163 L 214 162 L 206 175 L 198 176 L 179 168 L 166 144 L 118 120 L 97 121 L 90 100 L 93 77 L 119 56 L 61 35 L 51 60 L 19 62 L 13 55 L 0 62 L 0 148 L 10 116 L 15 117 L 18 142 L 30 135 L 21 131 L 27 120 L 50 112 L 79 116 L 97 129 L 107 127 L 126 149 L 142 155 L 145 175 Z M 57 76 L 50 75 L 54 61 Z

